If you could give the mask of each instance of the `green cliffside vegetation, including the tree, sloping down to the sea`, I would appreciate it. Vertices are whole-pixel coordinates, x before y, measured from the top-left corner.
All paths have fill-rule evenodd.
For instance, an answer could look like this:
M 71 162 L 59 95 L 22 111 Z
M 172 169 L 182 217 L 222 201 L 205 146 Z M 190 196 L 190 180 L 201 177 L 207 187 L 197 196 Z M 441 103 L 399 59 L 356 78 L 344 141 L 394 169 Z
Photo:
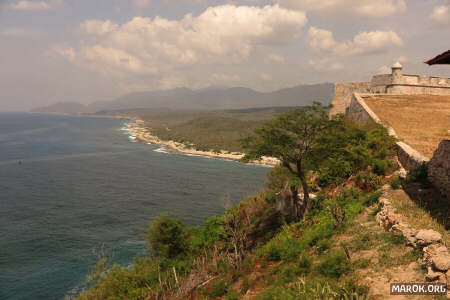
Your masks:
M 264 124 L 244 142 L 249 156 L 283 162 L 263 191 L 199 227 L 161 216 L 144 230 L 148 255 L 131 268 L 100 260 L 79 299 L 363 299 L 368 288 L 356 271 L 371 262 L 358 251 L 415 260 L 414 252 L 391 253 L 400 243 L 391 233 L 362 237 L 356 221 L 367 207 L 376 211 L 377 190 L 394 170 L 394 140 L 374 123 L 329 120 L 327 109 L 314 104 Z M 287 203 L 308 210 L 283 214 Z

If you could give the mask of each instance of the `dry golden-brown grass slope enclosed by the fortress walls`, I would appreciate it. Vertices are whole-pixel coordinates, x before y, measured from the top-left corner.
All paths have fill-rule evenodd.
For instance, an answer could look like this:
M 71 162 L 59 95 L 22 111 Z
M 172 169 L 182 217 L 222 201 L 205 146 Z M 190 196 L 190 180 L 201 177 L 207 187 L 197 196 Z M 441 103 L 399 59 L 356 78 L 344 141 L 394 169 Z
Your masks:
M 425 156 L 450 138 L 450 95 L 370 95 L 364 101 L 397 132 L 400 139 Z

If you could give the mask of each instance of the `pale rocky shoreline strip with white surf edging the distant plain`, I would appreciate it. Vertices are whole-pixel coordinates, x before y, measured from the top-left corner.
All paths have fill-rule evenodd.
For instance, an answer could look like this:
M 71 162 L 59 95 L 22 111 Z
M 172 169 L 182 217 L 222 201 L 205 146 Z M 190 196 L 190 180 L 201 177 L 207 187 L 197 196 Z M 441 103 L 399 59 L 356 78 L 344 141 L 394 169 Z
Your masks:
M 200 151 L 195 150 L 194 148 L 188 148 L 182 143 L 178 143 L 175 141 L 164 141 L 159 139 L 157 136 L 152 135 L 149 128 L 146 126 L 145 121 L 134 119 L 129 123 L 125 124 L 124 129 L 130 133 L 131 141 L 139 141 L 149 144 L 157 144 L 164 146 L 167 150 L 176 151 L 180 153 L 185 153 L 188 155 L 196 155 L 196 156 L 207 156 L 221 159 L 229 159 L 239 161 L 244 154 L 232 152 L 229 153 L 227 151 L 221 151 L 220 153 L 212 152 L 212 151 Z M 161 147 L 155 151 L 157 152 L 166 152 L 166 149 Z M 266 157 L 263 156 L 261 160 L 252 161 L 252 164 L 266 165 L 266 166 L 276 166 L 280 163 L 280 161 L 274 157 Z

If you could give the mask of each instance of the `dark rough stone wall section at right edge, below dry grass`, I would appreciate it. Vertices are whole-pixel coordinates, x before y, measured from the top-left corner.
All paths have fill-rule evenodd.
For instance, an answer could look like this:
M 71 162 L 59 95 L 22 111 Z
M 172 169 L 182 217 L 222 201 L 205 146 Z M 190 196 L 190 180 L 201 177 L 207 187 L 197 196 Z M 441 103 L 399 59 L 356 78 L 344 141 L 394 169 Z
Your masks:
M 428 179 L 450 199 L 450 140 L 444 140 L 428 164 Z

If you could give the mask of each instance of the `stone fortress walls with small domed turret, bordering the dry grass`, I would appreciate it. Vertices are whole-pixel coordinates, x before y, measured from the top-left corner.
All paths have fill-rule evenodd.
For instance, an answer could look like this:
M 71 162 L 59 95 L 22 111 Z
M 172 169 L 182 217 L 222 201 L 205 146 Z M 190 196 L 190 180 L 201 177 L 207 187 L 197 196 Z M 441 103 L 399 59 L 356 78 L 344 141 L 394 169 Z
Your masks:
M 337 83 L 330 115 L 346 113 L 357 122 L 373 120 L 383 124 L 380 118 L 364 102 L 360 94 L 450 95 L 450 78 L 420 75 L 403 75 L 399 63 L 392 66 L 392 74 L 373 76 L 371 82 Z M 386 126 L 386 124 L 383 124 Z M 397 137 L 387 126 L 390 135 Z M 450 141 L 443 140 L 431 160 L 404 142 L 397 142 L 398 159 L 406 170 L 428 163 L 429 180 L 450 199 Z

